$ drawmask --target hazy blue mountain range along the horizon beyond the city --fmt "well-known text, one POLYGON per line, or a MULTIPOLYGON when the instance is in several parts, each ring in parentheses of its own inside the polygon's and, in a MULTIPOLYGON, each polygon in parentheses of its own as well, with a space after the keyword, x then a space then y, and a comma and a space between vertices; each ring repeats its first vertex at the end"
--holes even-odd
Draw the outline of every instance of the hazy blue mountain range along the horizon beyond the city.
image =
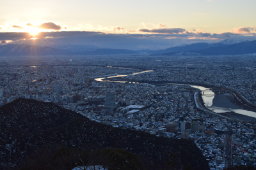
POLYGON ((25 55, 242 55, 256 53, 256 41, 225 39, 220 43, 193 43, 164 50, 138 50, 100 48, 99 46, 35 46, 10 44, 0 46, 0 56, 25 55))

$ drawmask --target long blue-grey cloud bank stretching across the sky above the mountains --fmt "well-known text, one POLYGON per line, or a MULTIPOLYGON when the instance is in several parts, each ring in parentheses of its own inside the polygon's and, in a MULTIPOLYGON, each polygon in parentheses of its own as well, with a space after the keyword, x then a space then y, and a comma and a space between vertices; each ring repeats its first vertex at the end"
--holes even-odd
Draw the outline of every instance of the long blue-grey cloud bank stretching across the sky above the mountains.
MULTIPOLYGON (((25 24, 26 25, 26 24, 25 24)), ((68 28, 70 29, 70 28, 68 28)), ((254 28, 253 28, 254 29, 254 28)), ((222 32, 220 34, 210 34, 199 29, 188 32, 186 29, 166 28, 163 29, 146 29, 148 32, 139 32, 134 30, 126 30, 125 34, 122 27, 104 27, 102 31, 54 31, 40 32, 34 37, 28 32, 0 32, 0 42, 6 43, 26 43, 39 46, 58 46, 67 45, 95 45, 101 48, 125 48, 129 50, 142 49, 164 49, 172 46, 179 46, 191 43, 218 43, 227 38, 256 39, 256 34, 252 31, 250 34, 237 34, 234 32, 222 32), (120 29, 117 29, 120 28, 120 29), (116 32, 114 31, 116 30, 116 32), (108 31, 108 33, 106 32, 108 31), (109 32, 112 31, 112 32, 109 32), (160 33, 159 33, 160 32, 160 33), (164 33, 163 33, 164 32, 164 33), (166 33, 167 32, 167 33, 166 33), (147 34, 145 34, 147 33, 147 34), (248 36, 250 35, 250 36, 248 36), (38 38, 38 39, 32 39, 38 38)), ((4 43, 0 43, 4 45, 4 43)))

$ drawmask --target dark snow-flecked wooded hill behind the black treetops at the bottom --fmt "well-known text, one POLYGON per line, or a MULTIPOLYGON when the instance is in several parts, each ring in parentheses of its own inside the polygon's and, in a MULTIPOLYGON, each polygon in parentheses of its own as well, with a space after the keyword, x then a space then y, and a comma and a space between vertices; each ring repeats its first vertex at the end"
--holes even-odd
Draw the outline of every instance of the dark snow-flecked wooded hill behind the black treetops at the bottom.
POLYGON ((209 169, 196 145, 184 139, 157 138, 146 132, 93 122, 52 103, 17 99, 0 108, 0 168, 18 167, 31 153, 56 145, 88 150, 122 148, 140 157, 146 169, 209 169), (175 155, 175 157, 173 157, 175 155))

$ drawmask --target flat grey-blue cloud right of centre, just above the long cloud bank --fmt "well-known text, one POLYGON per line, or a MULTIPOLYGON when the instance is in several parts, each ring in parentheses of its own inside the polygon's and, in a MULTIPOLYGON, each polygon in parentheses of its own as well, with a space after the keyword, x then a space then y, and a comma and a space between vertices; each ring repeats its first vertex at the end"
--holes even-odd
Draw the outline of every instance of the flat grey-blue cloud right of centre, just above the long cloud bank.
POLYGON ((182 28, 163 28, 163 29, 139 29, 140 32, 158 33, 158 34, 188 34, 186 29, 182 28))

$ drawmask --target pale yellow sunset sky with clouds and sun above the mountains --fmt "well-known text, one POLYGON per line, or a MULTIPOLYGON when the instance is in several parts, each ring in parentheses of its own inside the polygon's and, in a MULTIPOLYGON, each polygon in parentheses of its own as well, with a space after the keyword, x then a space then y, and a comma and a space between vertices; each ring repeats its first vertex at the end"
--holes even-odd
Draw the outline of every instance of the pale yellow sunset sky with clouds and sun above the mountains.
POLYGON ((130 50, 256 39, 255 0, 1 1, 0 45, 130 50))

